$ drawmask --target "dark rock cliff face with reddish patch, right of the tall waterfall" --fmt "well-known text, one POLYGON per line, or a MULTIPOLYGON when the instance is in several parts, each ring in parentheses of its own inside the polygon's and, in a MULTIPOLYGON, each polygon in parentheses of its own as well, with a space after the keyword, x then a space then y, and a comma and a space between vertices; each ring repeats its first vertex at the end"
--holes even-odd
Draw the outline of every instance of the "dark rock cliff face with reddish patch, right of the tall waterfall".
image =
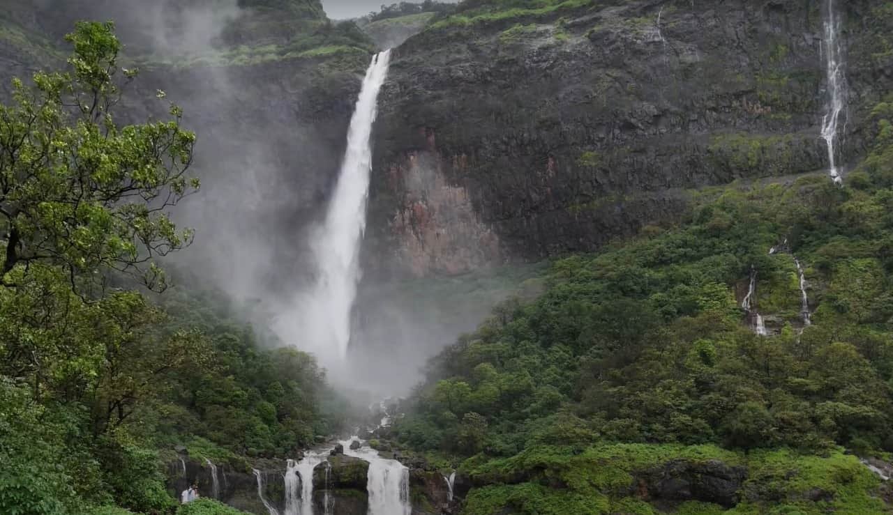
MULTIPOLYGON (((678 218, 686 189, 822 170, 823 4, 565 2, 436 21, 397 49, 380 98, 370 265, 455 274, 592 250, 678 218)), ((867 48, 886 23, 868 20, 893 16, 837 4, 847 162, 890 85, 867 48)))

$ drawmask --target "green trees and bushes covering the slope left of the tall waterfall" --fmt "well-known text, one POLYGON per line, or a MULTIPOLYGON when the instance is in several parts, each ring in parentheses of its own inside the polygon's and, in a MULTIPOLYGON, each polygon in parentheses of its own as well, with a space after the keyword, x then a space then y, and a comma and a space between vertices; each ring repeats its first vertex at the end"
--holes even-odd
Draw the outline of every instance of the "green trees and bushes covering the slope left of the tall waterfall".
POLYGON ((136 73, 110 24, 68 41, 69 71, 17 80, 0 106, 0 512, 171 512, 174 444, 245 469, 346 409, 311 356, 261 350, 213 295, 160 294, 156 260, 192 238, 168 211, 199 186, 196 136, 176 105, 117 123, 136 73))

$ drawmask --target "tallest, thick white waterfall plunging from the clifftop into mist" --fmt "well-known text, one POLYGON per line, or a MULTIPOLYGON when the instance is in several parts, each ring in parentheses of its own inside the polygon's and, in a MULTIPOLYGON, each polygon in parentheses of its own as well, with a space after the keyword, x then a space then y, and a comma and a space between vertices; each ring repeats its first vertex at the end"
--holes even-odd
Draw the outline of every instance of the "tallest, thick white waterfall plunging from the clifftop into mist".
POLYGON ((317 353, 343 360, 350 340, 350 316, 360 278, 359 249, 366 227, 366 200, 371 171, 370 137, 381 85, 388 75, 390 51, 375 55, 363 79, 347 130, 347 148, 338 185, 326 218, 313 238, 318 267, 313 295, 306 306, 303 330, 317 353), (337 349, 337 354, 333 353, 337 349))

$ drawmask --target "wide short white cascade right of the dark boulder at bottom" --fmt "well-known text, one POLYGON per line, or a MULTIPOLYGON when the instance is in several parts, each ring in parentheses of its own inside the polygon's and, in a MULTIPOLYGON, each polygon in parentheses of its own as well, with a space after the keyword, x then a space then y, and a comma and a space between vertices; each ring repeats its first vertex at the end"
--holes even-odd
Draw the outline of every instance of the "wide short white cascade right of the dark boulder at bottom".
POLYGON ((369 461, 368 485, 369 515, 410 515, 413 507, 409 502, 409 469, 396 460, 388 460, 369 447, 351 449, 350 443, 358 438, 341 442, 348 456, 369 461))

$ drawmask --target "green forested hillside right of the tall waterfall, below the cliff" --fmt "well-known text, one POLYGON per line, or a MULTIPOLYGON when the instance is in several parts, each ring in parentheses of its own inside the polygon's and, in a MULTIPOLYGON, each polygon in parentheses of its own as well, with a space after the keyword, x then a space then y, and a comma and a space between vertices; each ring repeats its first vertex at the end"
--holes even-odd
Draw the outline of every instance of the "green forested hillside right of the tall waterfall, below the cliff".
MULTIPOLYGON (((737 505, 679 512, 889 510, 842 450, 893 452, 891 105, 874 110, 877 143, 848 187, 715 188, 678 228, 555 262, 543 295, 502 304, 430 362, 396 438, 488 485, 467 513, 658 512, 629 496, 643 474, 711 461, 747 471, 737 505), (808 327, 791 254, 768 253, 786 238, 808 327), (751 267, 772 336, 739 307, 751 267)), ((715 145, 746 147, 753 167, 780 144, 715 145)))

